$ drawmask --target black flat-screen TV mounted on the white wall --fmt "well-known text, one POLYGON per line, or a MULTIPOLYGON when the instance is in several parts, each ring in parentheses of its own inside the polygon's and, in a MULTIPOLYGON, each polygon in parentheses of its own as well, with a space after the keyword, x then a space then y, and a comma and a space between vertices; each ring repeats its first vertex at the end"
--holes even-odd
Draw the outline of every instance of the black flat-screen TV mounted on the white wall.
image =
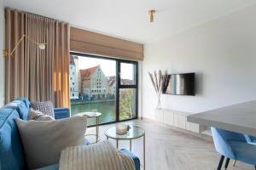
POLYGON ((163 94, 195 95, 195 73, 168 75, 163 94))

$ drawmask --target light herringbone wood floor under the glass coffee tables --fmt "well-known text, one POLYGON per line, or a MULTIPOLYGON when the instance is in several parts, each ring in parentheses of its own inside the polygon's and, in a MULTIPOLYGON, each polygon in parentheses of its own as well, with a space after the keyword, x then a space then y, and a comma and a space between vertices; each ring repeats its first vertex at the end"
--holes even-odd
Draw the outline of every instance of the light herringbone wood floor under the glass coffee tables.
MULTIPOLYGON (((122 122, 143 127, 146 131, 146 169, 147 170, 213 170, 216 169, 219 155, 212 141, 203 139, 193 133, 186 133, 173 127, 146 120, 122 122)), ((106 139, 104 132, 114 124, 100 127, 101 139, 106 139)), ((90 127, 87 133, 94 133, 90 127)), ((114 140, 111 140, 115 144, 114 140)), ((129 149, 127 141, 121 141, 119 148, 129 149)), ((132 152, 143 161, 143 139, 132 143, 132 152)), ((253 170, 254 167, 237 162, 230 170, 253 170)))

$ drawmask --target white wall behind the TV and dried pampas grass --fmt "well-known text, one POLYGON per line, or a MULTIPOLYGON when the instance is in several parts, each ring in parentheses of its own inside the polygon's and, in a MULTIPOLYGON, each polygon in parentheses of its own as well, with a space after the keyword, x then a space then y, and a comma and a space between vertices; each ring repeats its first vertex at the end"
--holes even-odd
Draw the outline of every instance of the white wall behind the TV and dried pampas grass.
POLYGON ((145 45, 143 116, 157 101, 148 71, 196 72, 195 97, 163 95, 162 107, 200 112, 256 99, 256 5, 145 45))

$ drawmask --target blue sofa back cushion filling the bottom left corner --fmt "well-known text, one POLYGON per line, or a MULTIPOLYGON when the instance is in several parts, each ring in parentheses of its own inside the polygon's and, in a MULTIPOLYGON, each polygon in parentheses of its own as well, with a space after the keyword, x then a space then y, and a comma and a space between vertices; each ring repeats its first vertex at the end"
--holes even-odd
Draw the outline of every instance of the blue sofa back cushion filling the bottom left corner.
POLYGON ((14 109, 0 109, 0 169, 26 169, 26 160, 15 123, 19 113, 14 109))

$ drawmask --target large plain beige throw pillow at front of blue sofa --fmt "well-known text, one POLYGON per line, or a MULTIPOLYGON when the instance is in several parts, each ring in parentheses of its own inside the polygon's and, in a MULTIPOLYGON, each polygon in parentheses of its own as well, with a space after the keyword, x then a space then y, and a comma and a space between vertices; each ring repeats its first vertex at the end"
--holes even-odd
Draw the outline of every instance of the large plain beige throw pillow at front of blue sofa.
POLYGON ((29 169, 58 163, 61 150, 83 145, 86 117, 73 116, 56 121, 23 121, 15 119, 20 131, 29 169))

